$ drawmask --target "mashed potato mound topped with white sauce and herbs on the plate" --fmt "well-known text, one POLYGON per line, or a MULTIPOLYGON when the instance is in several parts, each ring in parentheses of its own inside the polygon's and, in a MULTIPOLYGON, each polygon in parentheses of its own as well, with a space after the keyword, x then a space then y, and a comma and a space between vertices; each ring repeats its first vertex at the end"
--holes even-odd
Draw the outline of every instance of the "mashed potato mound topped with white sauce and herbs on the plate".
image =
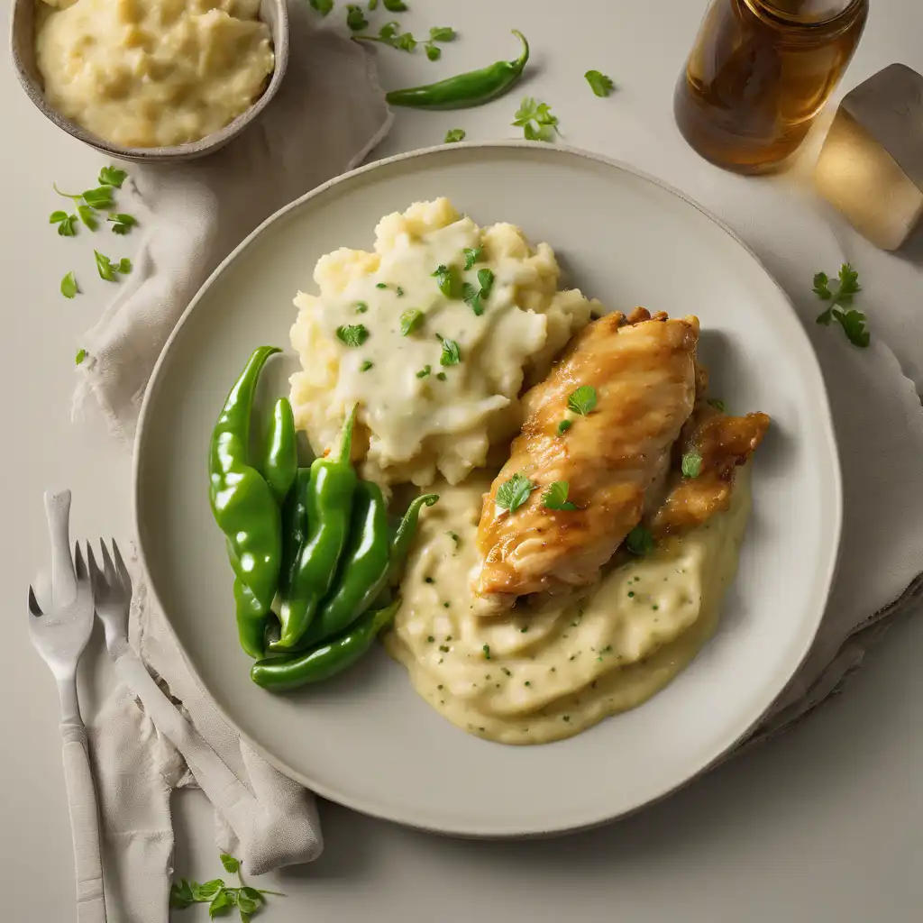
POLYGON ((460 483, 520 426, 523 383, 590 319, 594 303, 559 280, 550 246, 478 227, 446 198, 386 216, 374 252, 320 258, 319 293, 295 298, 296 424, 322 452, 358 403, 364 477, 460 483))

